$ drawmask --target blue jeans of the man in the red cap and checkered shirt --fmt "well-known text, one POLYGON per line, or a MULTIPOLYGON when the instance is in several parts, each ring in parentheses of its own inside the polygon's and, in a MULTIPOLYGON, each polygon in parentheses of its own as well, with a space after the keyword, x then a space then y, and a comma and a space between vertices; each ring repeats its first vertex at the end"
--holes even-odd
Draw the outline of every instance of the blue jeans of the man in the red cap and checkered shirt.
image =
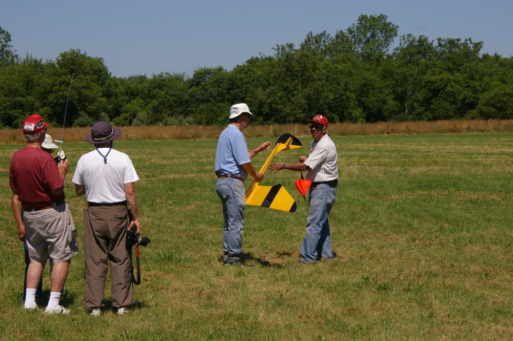
POLYGON ((313 263, 320 258, 332 258, 328 215, 335 203, 337 187, 313 185, 310 189, 310 209, 306 218, 306 236, 301 244, 301 261, 313 263))

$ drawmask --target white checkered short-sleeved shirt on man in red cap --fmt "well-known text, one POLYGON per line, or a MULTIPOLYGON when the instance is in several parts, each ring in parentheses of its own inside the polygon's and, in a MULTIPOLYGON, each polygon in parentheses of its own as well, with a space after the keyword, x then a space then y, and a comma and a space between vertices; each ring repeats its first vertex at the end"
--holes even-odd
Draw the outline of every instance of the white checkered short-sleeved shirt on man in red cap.
POLYGON ((328 135, 324 135, 319 142, 312 141, 310 155, 304 164, 311 169, 307 172, 306 177, 313 183, 339 178, 337 148, 328 135))

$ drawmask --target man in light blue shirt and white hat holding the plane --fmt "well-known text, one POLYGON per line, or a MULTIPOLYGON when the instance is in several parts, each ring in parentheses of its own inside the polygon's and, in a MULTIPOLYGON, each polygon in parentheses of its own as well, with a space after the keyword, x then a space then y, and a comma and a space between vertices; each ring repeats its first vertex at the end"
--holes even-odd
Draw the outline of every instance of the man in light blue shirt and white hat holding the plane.
POLYGON ((251 122, 253 114, 246 104, 235 104, 230 108, 230 124, 219 135, 215 153, 215 175, 218 182, 215 190, 223 204, 223 263, 225 265, 250 266, 241 259, 244 207, 246 206, 244 181, 249 174, 261 181, 264 174, 255 171, 251 158, 271 147, 266 142, 248 151, 246 138, 242 133, 251 122))

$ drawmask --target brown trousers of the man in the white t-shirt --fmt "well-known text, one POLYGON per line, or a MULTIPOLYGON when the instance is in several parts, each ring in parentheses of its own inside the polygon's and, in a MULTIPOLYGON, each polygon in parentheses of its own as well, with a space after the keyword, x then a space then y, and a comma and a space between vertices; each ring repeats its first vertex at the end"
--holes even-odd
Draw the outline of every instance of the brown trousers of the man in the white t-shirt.
POLYGON ((125 206, 91 206, 84 211, 84 309, 104 306, 102 298, 109 264, 112 306, 133 304, 131 248, 125 246, 129 224, 125 206))

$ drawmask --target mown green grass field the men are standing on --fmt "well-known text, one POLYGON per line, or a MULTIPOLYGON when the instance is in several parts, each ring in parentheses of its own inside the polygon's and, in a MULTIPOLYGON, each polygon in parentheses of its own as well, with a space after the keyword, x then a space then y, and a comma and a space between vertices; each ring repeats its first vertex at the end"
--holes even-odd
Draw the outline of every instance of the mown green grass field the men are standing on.
MULTIPOLYGON (((305 134, 306 135, 306 134, 305 134)), ((278 136, 269 138, 274 142, 278 136)), ((305 147, 274 160, 295 162, 305 147)), ((249 138, 249 148, 265 138, 249 138)), ((333 262, 298 264, 307 203, 299 173, 266 173, 297 200, 294 213, 246 207, 253 268, 226 267, 213 174, 215 139, 120 141, 136 183, 143 236, 137 312, 82 309, 83 253, 72 260, 68 316, 21 309, 23 246, 0 145, 2 340, 510 340, 513 339, 511 133, 333 137, 339 153, 330 215, 333 262)), ((83 250, 83 197, 71 177, 86 143, 67 143, 67 202, 83 250)), ((257 168, 269 152, 253 158, 257 168)), ((248 182, 246 186, 249 186, 248 182)), ((44 289, 48 294, 48 269, 44 289)), ((109 304, 110 286, 105 292, 109 304)), ((46 303, 43 302, 44 305, 46 303)))

